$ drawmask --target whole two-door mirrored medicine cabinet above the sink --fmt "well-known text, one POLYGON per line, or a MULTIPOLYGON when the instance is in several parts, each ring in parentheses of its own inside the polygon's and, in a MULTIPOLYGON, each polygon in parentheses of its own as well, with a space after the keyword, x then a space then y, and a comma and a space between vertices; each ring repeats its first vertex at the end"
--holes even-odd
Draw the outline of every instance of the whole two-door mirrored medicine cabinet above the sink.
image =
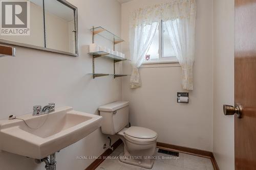
MULTIPOLYGON (((78 56, 77 8, 65 0, 28 2, 30 35, 0 35, 0 43, 78 56)), ((5 10, 8 11, 7 8, 5 10)), ((15 10, 18 9, 15 7, 15 10)), ((22 18, 16 14, 15 17, 22 18)))

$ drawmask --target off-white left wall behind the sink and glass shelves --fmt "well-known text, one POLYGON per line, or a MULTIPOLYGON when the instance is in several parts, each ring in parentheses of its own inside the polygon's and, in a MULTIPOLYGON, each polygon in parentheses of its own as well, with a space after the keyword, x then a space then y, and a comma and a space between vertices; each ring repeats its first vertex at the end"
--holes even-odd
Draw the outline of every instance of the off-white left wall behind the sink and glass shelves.
MULTIPOLYGON (((121 34, 121 5, 116 0, 69 2, 78 7, 79 57, 17 47, 16 57, 1 58, 0 118, 26 114, 32 111, 33 105, 49 102, 55 102, 56 107, 73 106, 78 111, 98 114, 98 106, 121 99, 121 79, 93 80, 88 75, 92 72, 92 57, 87 54, 92 26, 121 34)), ((112 72, 113 61, 98 58, 96 69, 97 72, 112 72)), ((56 154, 57 169, 86 168, 93 160, 77 160, 76 156, 102 154, 105 141, 106 136, 98 129, 61 150, 56 154)), ((1 169, 45 169, 44 163, 35 164, 31 158, 7 152, 0 153, 0 165, 1 169)))

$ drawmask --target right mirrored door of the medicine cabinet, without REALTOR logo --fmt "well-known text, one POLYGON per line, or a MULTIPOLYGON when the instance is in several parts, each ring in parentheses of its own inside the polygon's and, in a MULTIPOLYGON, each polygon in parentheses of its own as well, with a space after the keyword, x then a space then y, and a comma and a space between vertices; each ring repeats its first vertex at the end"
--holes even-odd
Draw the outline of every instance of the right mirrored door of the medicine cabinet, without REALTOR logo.
POLYGON ((45 0, 46 47, 76 53, 74 9, 59 1, 45 0))

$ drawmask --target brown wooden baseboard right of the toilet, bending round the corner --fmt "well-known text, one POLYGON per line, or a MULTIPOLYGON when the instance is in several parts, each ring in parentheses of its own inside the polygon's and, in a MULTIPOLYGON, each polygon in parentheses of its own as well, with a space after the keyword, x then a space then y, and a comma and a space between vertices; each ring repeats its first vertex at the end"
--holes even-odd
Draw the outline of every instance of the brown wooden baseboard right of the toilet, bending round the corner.
POLYGON ((214 167, 214 170, 220 170, 214 157, 214 154, 212 154, 212 152, 187 147, 180 147, 178 145, 167 144, 162 142, 157 142, 157 148, 209 158, 211 160, 212 166, 214 167))

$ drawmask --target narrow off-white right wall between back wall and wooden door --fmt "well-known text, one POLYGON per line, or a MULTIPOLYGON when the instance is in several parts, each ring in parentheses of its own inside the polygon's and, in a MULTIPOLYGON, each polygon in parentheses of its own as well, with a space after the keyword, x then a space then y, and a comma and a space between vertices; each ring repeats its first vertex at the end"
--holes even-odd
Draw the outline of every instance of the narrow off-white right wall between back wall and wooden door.
POLYGON ((234 1, 214 0, 214 141, 220 169, 234 169, 234 121, 223 104, 234 104, 234 1))

